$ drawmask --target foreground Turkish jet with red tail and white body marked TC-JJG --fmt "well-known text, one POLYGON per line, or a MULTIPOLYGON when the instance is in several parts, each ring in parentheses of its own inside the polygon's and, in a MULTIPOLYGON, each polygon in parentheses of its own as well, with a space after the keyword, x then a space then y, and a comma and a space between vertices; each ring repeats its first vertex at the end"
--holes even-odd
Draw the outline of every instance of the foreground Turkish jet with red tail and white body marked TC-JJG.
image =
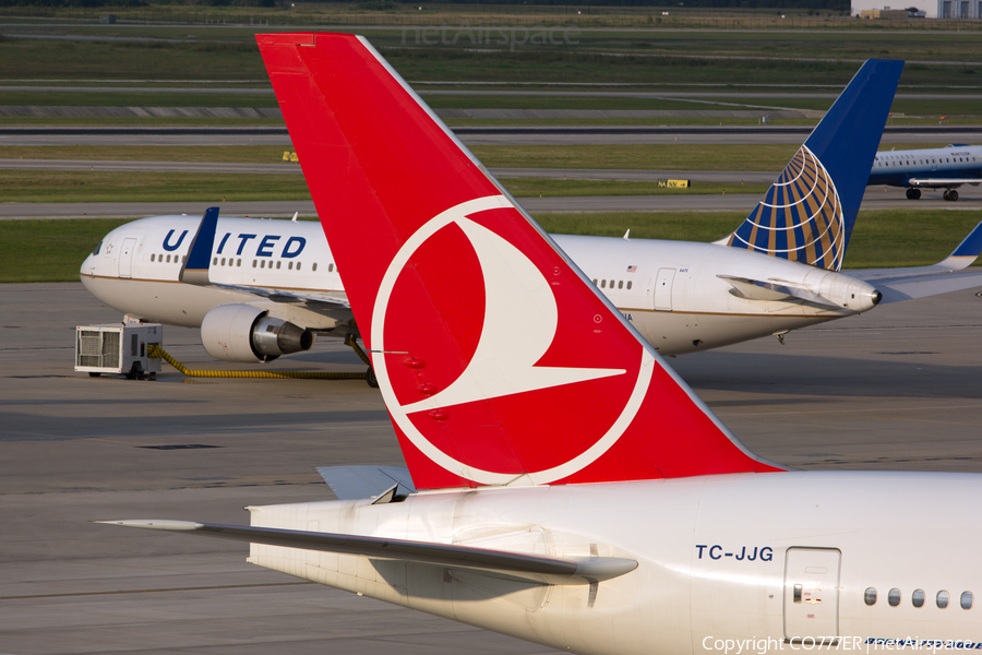
POLYGON ((256 39, 408 471, 106 523, 572 653, 982 650, 982 476, 754 455, 363 37, 256 39))

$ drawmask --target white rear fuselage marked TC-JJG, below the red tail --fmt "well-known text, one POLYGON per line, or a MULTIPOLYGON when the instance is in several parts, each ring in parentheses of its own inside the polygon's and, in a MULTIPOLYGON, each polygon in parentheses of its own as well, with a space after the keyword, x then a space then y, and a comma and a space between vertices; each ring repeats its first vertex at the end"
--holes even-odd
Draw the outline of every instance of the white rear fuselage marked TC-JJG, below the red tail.
POLYGON ((982 523, 951 499, 980 495, 973 474, 787 472, 249 508, 253 526, 637 560, 592 591, 255 544, 249 561, 576 653, 965 652, 982 648, 982 568, 963 565, 982 523))

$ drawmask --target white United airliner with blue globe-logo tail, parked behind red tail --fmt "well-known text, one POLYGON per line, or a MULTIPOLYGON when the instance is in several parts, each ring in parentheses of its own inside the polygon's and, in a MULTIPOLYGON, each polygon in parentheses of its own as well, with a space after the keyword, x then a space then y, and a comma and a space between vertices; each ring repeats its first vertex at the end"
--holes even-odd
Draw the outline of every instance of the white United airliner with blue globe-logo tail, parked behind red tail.
MULTIPOLYGON (((982 251, 982 223, 933 266, 840 270, 864 191, 857 171, 873 157, 894 88, 857 109, 859 94, 855 84, 843 92, 753 213, 721 241, 552 238, 661 355, 783 338, 881 300, 982 286, 982 271, 966 270, 982 251)), ((82 282, 132 317, 200 326, 216 359, 268 361, 310 348, 314 332, 358 336, 319 224, 212 212, 116 228, 82 264, 82 282), (189 253, 193 275, 184 269, 189 253)), ((364 233, 359 249, 374 240, 364 233)))

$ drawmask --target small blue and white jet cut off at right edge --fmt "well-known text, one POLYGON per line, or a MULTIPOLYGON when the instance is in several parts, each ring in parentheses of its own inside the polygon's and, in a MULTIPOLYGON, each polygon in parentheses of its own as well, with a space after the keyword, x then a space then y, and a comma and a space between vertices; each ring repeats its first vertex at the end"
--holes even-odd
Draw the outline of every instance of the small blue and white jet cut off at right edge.
POLYGON ((876 153, 870 187, 907 187, 907 199, 921 198, 921 189, 944 189, 944 199, 958 200, 961 184, 982 182, 982 145, 953 143, 945 147, 876 153))

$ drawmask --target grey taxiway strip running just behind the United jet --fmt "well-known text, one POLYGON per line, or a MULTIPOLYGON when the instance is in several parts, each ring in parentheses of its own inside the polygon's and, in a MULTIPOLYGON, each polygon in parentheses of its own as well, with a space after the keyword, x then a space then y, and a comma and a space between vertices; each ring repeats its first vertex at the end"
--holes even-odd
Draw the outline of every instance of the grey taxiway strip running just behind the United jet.
MULTIPOLYGON (((863 198, 864 210, 982 210, 982 188, 962 187, 958 202, 946 202, 941 190, 924 190, 919 201, 907 200, 903 189, 871 187, 863 198)), ((518 198, 530 213, 540 212, 750 212, 761 200, 755 193, 666 195, 565 195, 553 198, 518 198)), ((36 218, 96 218, 143 217, 164 214, 201 215, 207 207, 221 207, 226 216, 252 216, 262 218, 290 217, 298 212, 302 217, 315 217, 313 201, 175 201, 175 202, 13 202, 0 203, 0 221, 36 218)))

